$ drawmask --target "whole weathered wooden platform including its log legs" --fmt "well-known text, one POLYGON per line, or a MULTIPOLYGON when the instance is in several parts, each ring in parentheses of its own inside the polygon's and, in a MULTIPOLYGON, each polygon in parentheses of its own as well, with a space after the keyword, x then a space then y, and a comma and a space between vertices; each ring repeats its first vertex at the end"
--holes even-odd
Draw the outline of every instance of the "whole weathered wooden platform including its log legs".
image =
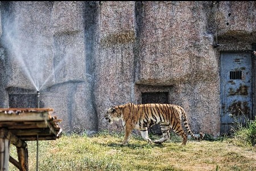
POLYGON ((28 170, 28 140, 60 138, 61 119, 51 116, 49 108, 0 108, 0 171, 9 170, 9 161, 20 171, 28 170), (10 144, 16 146, 18 160, 9 154, 10 144))

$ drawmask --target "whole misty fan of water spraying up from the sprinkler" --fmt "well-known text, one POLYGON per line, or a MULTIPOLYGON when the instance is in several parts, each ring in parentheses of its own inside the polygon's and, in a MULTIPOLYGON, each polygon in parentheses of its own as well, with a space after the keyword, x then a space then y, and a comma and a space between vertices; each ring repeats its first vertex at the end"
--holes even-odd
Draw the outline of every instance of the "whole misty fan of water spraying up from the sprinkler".
POLYGON ((43 25, 45 23, 42 23, 43 27, 38 24, 37 19, 41 17, 39 13, 35 14, 38 15, 35 16, 35 24, 27 21, 28 19, 34 19, 29 16, 31 15, 29 12, 22 15, 16 14, 9 15, 7 12, 2 21, 2 38, 5 42, 3 45, 7 49, 7 62, 10 62, 14 71, 11 72, 9 77, 10 84, 13 86, 17 83, 16 87, 42 91, 42 89, 58 82, 58 78, 70 74, 72 71, 67 72, 67 69, 76 67, 79 59, 73 51, 74 47, 61 46, 63 40, 56 42, 56 49, 59 51, 56 52, 56 55, 54 54, 53 43, 55 42, 51 29, 48 28, 48 25, 43 25), (49 32, 46 32, 46 29, 49 29, 49 32), (20 78, 20 76, 24 76, 29 82, 24 84, 24 78, 20 78), (18 81, 15 82, 14 79, 18 81))

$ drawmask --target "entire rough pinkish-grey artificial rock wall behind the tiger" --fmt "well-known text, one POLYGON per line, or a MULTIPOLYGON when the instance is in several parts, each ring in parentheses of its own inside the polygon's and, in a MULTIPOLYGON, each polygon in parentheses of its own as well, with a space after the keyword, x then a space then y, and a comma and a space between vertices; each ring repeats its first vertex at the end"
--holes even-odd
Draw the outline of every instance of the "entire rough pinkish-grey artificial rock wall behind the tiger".
POLYGON ((121 130, 104 120, 106 109, 164 91, 192 131, 218 135, 219 53, 252 50, 255 9, 252 1, 1 2, 0 107, 10 93, 40 89, 40 105, 64 130, 121 130), (223 45, 213 48, 216 37, 223 45))

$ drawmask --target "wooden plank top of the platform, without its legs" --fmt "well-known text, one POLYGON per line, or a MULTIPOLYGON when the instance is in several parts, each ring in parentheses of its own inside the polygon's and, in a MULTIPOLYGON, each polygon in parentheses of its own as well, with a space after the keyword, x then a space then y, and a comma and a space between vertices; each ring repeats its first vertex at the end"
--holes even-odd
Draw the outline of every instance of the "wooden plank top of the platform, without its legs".
POLYGON ((51 108, 0 108, 0 128, 10 130, 21 140, 55 140, 60 137, 62 119, 51 108))

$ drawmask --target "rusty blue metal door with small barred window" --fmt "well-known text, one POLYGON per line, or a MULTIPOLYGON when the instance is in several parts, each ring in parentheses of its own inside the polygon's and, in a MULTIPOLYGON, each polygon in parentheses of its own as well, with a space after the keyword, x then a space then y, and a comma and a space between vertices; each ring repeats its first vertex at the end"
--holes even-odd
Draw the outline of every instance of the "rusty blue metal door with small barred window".
POLYGON ((221 134, 252 116, 251 54, 220 54, 221 134))

